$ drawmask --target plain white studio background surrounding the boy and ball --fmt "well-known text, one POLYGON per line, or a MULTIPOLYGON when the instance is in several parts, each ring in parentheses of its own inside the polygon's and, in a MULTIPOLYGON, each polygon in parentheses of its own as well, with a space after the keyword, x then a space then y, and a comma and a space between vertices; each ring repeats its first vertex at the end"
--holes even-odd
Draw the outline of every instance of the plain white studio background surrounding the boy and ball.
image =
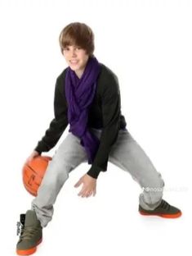
POLYGON ((21 168, 53 118, 56 77, 66 67, 58 37, 74 21, 92 27, 97 59, 118 75, 127 129, 161 172, 164 199, 183 215, 139 215, 141 188, 111 163, 96 197, 78 197, 74 184, 90 168, 83 163, 61 190, 36 254, 190 255, 191 13, 190 0, 0 1, 3 256, 15 255, 16 222, 33 199, 21 168))

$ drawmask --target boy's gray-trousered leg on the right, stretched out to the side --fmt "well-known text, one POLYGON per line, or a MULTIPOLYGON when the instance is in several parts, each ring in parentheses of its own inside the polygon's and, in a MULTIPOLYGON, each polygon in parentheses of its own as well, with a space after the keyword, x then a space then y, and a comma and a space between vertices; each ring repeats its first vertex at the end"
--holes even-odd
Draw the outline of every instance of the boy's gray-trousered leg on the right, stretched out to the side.
POLYGON ((118 139, 109 153, 109 161, 128 171, 144 189, 139 197, 142 208, 153 210, 159 206, 164 185, 161 174, 127 130, 119 130, 118 139))

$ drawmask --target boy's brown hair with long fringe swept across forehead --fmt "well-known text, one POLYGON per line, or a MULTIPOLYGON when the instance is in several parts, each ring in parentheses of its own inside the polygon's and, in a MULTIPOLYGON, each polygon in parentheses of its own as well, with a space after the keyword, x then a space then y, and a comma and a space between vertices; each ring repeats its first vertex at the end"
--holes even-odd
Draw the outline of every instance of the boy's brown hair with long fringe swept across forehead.
POLYGON ((66 25, 60 32, 59 42, 61 53, 69 45, 76 45, 83 48, 89 56, 93 55, 95 49, 92 29, 88 25, 80 22, 73 22, 66 25))

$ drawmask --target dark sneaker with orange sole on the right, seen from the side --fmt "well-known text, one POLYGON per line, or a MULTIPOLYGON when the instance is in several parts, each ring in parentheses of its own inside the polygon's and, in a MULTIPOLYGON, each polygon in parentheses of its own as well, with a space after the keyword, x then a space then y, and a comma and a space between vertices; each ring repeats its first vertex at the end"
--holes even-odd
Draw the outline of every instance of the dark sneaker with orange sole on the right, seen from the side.
POLYGON ((161 203, 157 208, 154 210, 145 210, 144 208, 139 205, 139 213, 142 215, 155 215, 160 217, 168 217, 168 218, 175 218, 181 216, 181 210, 170 205, 165 200, 162 199, 161 203))

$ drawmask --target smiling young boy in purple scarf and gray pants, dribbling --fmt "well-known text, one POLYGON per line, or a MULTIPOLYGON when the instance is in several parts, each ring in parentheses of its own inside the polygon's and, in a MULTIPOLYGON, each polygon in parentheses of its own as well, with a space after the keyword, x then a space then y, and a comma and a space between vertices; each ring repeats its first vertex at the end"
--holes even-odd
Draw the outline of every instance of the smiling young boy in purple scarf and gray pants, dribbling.
POLYGON ((162 199, 163 179, 144 150, 128 132, 121 113, 118 78, 97 61, 94 34, 90 27, 74 22, 60 33, 60 50, 68 67, 57 77, 54 112, 45 135, 27 161, 52 149, 69 124, 69 134, 49 162, 32 208, 20 214, 19 255, 33 254, 42 241, 42 228, 53 215, 53 204, 69 172, 82 162, 92 164, 74 185, 83 184, 79 196, 96 195, 96 179, 107 163, 129 172, 144 189, 139 197, 139 213, 160 217, 180 217, 181 211, 162 199))

